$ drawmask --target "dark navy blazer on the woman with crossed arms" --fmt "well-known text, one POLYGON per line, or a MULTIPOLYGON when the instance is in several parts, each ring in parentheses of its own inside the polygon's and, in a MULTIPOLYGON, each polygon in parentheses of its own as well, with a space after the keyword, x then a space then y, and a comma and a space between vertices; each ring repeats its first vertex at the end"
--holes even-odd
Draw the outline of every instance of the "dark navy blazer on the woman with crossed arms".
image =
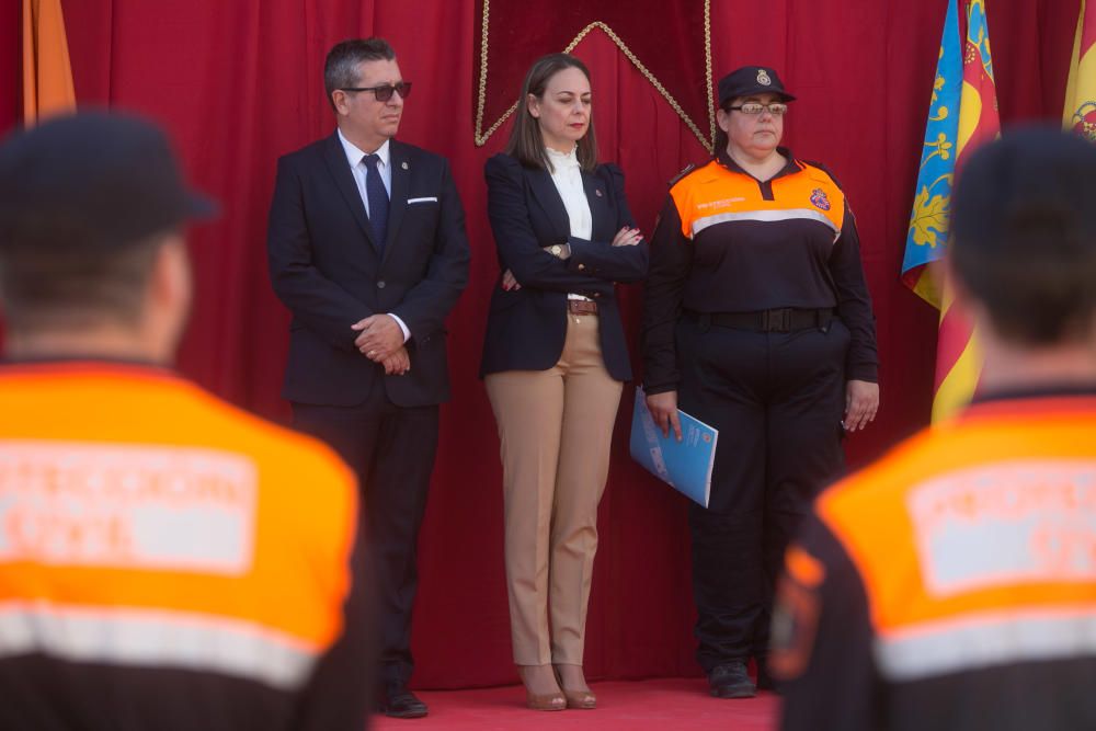
POLYGON ((610 245, 623 226, 635 226, 624 173, 607 163, 582 173, 593 218, 593 240, 586 241, 571 237, 563 199, 546 170, 495 155, 483 172, 499 266, 513 272, 522 287, 506 292, 499 284, 491 295, 480 376, 556 365, 567 338, 567 294, 573 292, 597 301, 605 368, 618 380, 630 379, 614 283, 647 276, 648 245, 610 245), (571 258, 564 261, 544 251, 553 243, 569 243, 571 258))

